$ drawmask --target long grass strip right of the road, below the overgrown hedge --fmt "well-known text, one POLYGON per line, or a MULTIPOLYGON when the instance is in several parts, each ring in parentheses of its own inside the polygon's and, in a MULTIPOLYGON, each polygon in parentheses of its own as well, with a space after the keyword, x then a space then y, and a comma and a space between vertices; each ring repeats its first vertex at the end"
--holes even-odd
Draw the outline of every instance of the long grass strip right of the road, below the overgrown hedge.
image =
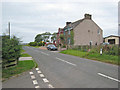
POLYGON ((61 51, 60 53, 118 65, 118 56, 105 54, 100 55, 99 53, 82 52, 79 50, 65 50, 61 51))

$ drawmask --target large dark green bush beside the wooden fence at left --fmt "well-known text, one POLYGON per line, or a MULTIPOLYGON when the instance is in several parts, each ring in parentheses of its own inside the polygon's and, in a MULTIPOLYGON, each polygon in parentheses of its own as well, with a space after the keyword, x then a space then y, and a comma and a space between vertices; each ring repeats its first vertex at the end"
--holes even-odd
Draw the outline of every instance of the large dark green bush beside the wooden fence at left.
POLYGON ((18 62, 18 58, 21 54, 21 45, 17 37, 13 36, 11 39, 9 36, 2 36, 2 66, 3 68, 10 62, 18 62))

